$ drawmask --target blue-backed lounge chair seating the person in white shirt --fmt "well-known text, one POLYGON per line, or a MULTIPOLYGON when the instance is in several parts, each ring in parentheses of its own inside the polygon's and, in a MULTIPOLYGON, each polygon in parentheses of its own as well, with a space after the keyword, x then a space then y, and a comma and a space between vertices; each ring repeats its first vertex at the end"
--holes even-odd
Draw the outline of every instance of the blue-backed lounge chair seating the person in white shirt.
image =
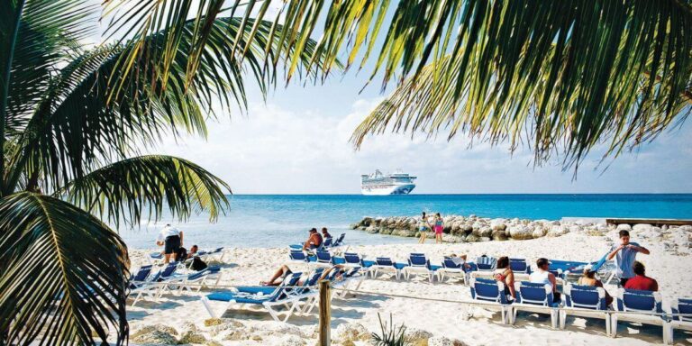
POLYGON ((560 302, 553 301, 550 285, 534 284, 528 281, 515 283, 516 302, 514 302, 514 314, 512 324, 516 322, 518 311, 528 311, 536 314, 550 314, 552 328, 558 327, 560 302))

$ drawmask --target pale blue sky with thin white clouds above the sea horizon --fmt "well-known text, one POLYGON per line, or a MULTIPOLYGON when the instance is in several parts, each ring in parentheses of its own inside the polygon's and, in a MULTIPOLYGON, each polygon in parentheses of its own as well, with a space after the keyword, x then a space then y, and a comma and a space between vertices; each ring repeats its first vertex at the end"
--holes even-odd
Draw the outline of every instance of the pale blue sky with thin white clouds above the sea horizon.
MULTIPOLYGON (((319 33, 316 33, 317 35, 319 33)), ((355 126, 387 96, 379 80, 362 93, 370 70, 350 71, 322 85, 277 87, 263 102, 248 88, 246 114, 210 123, 206 140, 167 138, 151 152, 191 159, 228 182, 236 194, 358 194, 360 174, 402 168, 418 176, 414 193, 682 193, 692 192, 692 131, 688 123, 626 152, 603 171, 599 150, 574 179, 560 161, 533 167, 532 154, 457 137, 425 141, 386 134, 349 143, 355 126)), ((227 115, 227 116, 225 116, 227 115)))

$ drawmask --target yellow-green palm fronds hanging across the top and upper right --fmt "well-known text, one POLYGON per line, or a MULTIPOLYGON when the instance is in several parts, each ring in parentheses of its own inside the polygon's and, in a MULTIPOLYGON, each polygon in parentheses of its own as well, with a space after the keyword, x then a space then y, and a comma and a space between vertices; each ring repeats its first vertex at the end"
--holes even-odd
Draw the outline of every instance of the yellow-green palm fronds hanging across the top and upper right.
MULTIPOLYGON (((123 1, 132 0, 110 2, 123 1)), ((322 32, 311 68, 328 72, 343 54, 347 68, 396 84, 353 133, 356 146, 386 131, 461 133, 525 142, 535 162, 558 153, 576 168, 596 146, 615 157, 690 112, 690 0, 292 0, 278 11, 269 1, 230 3, 243 18, 296 29, 272 36, 285 50, 322 32)), ((297 56, 288 66, 290 77, 297 56)))

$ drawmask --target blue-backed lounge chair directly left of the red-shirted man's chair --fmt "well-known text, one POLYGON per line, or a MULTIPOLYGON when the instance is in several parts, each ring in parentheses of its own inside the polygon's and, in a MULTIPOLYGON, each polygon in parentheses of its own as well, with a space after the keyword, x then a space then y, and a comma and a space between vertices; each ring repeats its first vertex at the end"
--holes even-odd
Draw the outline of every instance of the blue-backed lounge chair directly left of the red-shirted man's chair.
POLYGON ((605 305, 605 289, 593 286, 567 285, 564 288, 565 306, 560 309, 560 329, 565 329, 567 316, 605 320, 605 335, 610 336, 610 314, 605 305))

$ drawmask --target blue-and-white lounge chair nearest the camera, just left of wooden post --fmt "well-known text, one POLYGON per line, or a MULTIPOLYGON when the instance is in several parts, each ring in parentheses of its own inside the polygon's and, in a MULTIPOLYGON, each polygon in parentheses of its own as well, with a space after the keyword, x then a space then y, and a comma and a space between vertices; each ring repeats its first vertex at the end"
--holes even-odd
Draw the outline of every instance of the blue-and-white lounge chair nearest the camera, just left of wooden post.
POLYGON ((202 303, 212 317, 219 317, 219 315, 214 314, 214 309, 211 305, 211 302, 215 301, 225 303, 222 315, 232 305, 260 305, 271 315, 274 321, 286 322, 295 309, 293 303, 296 296, 293 296, 290 292, 292 289, 295 289, 301 275, 302 273, 288 275, 278 287, 236 287, 233 291, 214 292, 202 297, 202 303), (287 310, 278 311, 278 306, 284 306, 287 310), (285 314, 286 316, 281 319, 280 314, 285 314))

